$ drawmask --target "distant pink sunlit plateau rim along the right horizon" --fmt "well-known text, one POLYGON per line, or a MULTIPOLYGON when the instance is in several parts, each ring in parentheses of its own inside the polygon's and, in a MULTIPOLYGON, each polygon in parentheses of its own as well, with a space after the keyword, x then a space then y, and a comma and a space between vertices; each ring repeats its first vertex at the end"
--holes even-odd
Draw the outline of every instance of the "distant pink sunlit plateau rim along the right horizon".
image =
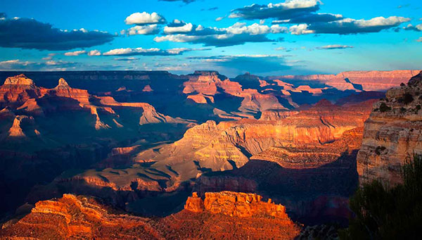
POLYGON ((285 75, 270 77, 280 80, 309 80, 324 83, 340 90, 387 91, 407 82, 418 70, 350 71, 338 75, 285 75))

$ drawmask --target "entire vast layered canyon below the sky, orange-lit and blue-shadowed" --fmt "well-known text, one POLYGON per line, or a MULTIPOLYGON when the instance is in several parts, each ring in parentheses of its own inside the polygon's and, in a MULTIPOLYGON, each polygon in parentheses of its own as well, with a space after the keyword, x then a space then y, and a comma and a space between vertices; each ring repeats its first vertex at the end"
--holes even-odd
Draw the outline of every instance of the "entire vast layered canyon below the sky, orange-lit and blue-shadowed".
POLYGON ((0 235, 293 239, 293 221, 347 225, 358 181, 399 182, 422 152, 418 72, 0 72, 0 235))

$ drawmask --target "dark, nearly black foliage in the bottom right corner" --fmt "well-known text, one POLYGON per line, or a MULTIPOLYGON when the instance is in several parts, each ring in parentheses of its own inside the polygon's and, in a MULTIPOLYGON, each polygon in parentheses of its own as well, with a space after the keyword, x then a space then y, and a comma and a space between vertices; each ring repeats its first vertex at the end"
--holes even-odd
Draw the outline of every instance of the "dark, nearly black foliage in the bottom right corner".
POLYGON ((402 184, 388 187, 374 180, 350 198, 355 217, 340 239, 420 239, 422 222, 422 156, 402 168, 402 184))

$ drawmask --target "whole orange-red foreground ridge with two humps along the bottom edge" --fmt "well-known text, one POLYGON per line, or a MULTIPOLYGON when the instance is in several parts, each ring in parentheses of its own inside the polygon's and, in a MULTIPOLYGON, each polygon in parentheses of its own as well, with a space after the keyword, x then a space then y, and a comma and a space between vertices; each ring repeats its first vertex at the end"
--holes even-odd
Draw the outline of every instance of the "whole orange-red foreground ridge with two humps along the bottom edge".
MULTIPOLYGON (((187 210, 149 219, 127 215, 85 196, 39 201, 25 217, 12 219, 0 229, 3 239, 294 239, 300 228, 283 206, 260 201, 256 194, 207 194, 210 211, 195 211, 195 194, 187 210), (236 203, 236 206, 235 206, 236 203), (234 209, 234 214, 230 214, 234 209), (218 211, 218 210, 222 211, 218 211)), ((203 201, 202 199, 198 199, 203 201)), ((202 205, 203 206, 203 205, 202 205)), ((26 206, 30 208, 30 206, 26 206)), ((201 208, 203 209, 203 208, 201 208)))

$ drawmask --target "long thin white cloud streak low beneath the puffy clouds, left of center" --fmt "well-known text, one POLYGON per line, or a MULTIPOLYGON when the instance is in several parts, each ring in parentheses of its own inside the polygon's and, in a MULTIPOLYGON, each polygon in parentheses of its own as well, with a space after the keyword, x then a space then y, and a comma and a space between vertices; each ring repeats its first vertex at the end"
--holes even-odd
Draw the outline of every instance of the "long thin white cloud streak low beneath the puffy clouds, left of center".
POLYGON ((181 55, 186 51, 203 51, 209 49, 186 49, 186 48, 179 48, 179 49, 143 49, 139 48, 126 48, 126 49, 112 49, 103 53, 103 56, 175 56, 181 55))

